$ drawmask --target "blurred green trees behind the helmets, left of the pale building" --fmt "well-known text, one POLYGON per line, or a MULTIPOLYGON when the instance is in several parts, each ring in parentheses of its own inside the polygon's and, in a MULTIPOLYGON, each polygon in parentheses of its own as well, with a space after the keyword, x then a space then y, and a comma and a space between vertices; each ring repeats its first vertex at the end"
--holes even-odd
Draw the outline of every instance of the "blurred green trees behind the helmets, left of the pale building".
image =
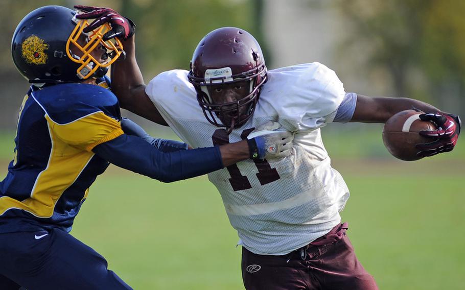
POLYGON ((136 23, 137 61, 146 82, 159 72, 189 69, 200 39, 223 26, 241 27, 257 37, 261 33, 262 0, 7 0, 0 1, 0 129, 15 127, 17 108, 28 83, 11 60, 11 38, 17 23, 30 11, 45 5, 108 6, 136 23))

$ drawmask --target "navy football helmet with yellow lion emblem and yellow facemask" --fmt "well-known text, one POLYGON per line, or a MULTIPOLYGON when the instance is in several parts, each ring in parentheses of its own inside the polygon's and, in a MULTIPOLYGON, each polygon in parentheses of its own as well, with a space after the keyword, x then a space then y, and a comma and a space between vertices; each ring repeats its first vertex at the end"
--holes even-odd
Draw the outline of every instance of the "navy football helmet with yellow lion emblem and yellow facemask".
POLYGON ((102 77, 123 53, 119 39, 102 40, 111 29, 107 23, 86 34, 82 31, 89 23, 76 19, 76 13, 62 6, 44 6, 19 22, 11 54, 16 68, 30 83, 41 86, 102 77), (96 49, 102 50, 106 61, 91 55, 96 49))

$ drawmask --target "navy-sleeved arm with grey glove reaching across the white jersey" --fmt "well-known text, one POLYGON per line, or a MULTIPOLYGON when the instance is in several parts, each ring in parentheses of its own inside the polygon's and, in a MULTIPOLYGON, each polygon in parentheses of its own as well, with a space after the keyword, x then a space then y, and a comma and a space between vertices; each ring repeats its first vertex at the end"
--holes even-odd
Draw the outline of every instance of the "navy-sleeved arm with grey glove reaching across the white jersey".
POLYGON ((143 138, 123 134, 97 145, 92 151, 119 167, 173 182, 214 172, 248 158, 285 157, 291 152, 292 139, 291 132, 263 131, 251 139, 219 147, 161 152, 143 138), (269 151, 269 148, 278 150, 269 151))

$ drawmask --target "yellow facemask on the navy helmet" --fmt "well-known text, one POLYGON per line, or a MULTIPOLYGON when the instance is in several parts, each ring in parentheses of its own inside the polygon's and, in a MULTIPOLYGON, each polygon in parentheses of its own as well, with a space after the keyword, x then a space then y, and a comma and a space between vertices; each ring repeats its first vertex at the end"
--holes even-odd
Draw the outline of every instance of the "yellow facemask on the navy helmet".
POLYGON ((89 26, 89 22, 86 19, 77 19, 73 17, 73 21, 76 22, 76 28, 73 30, 71 35, 66 42, 66 51, 69 59, 74 62, 80 63, 81 66, 76 70, 78 76, 85 80, 94 75, 94 72, 97 71, 100 67, 107 67, 117 60, 121 54, 124 54, 123 44, 121 41, 115 37, 107 41, 103 40, 103 35, 111 30, 111 27, 108 23, 99 26, 98 28, 90 31, 89 33, 82 32, 84 28, 89 26), (82 35, 86 35, 87 41, 82 46, 78 39, 82 35), (81 53, 82 56, 77 56, 71 52, 70 44, 73 44, 81 53), (98 59, 94 58, 91 55, 91 52, 94 51, 99 45, 103 45, 107 51, 108 59, 104 63, 100 63, 98 59))

